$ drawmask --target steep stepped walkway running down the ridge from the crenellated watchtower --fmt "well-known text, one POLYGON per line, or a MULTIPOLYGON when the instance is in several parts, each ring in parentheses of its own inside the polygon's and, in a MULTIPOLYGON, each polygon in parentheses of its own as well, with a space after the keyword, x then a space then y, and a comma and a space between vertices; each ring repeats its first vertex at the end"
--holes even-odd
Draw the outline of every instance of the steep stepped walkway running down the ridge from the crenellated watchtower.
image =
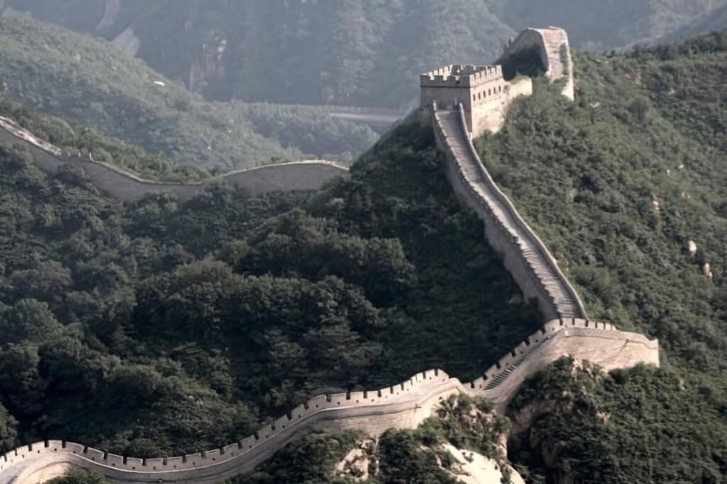
POLYGON ((462 126, 459 111, 438 110, 434 113, 434 118, 446 143, 449 144, 458 170, 467 184, 474 189, 475 194, 487 205, 489 211, 510 233, 526 265, 534 272, 553 300, 558 317, 563 319, 587 317, 575 290, 557 268, 553 256, 517 215, 505 194, 495 186, 479 157, 473 155, 468 146, 470 144, 468 133, 465 126, 462 126))

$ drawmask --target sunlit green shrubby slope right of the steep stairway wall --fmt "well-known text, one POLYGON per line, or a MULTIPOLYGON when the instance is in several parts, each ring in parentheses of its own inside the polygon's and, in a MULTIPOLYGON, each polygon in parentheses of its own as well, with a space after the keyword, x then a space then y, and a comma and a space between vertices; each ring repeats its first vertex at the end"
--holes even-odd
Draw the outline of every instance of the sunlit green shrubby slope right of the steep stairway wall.
POLYGON ((477 141, 591 316, 703 372, 726 369, 726 38, 579 54, 577 102, 540 89, 477 141))

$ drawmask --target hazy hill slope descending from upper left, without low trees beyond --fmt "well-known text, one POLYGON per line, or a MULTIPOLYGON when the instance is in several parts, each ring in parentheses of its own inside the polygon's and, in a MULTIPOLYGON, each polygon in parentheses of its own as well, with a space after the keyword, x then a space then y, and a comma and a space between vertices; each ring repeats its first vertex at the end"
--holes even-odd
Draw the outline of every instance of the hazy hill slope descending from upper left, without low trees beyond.
POLYGON ((42 22, 0 18, 0 94, 181 163, 301 157, 110 44, 42 22))

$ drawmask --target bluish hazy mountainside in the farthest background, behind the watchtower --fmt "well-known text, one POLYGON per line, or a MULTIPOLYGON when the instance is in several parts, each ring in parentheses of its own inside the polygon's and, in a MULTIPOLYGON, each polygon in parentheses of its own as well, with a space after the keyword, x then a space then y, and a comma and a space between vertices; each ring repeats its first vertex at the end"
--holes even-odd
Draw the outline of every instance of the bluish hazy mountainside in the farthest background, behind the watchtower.
MULTIPOLYGON (((727 28, 725 0, 5 0, 103 36, 209 99, 415 107, 412 80, 492 62, 526 27, 557 25, 579 49, 619 49, 727 28), (701 18, 701 20, 696 20, 701 18), (721 20, 720 20, 721 19, 721 20)), ((1 2, 0 2, 1 5, 1 2)))

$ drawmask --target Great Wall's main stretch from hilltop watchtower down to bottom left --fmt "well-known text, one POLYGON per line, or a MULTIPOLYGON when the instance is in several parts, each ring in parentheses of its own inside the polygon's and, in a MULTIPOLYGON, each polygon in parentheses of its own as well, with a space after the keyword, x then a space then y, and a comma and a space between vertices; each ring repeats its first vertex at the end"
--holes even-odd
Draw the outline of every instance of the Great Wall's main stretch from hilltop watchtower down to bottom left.
MULTIPOLYGON (((534 31, 541 39, 542 55, 548 56, 544 65, 550 66, 549 72, 566 75, 569 70, 572 76, 571 65, 556 66, 562 60, 563 42, 567 49, 565 32, 553 28, 534 31), (553 38, 549 38, 550 33, 553 38), (561 44, 555 49, 548 47, 558 42, 561 44)), ((531 34, 523 38, 516 39, 508 49, 520 48, 520 41, 531 48, 531 34)), ((470 383, 463 384, 435 369, 381 390, 319 395, 244 440, 186 456, 134 459, 76 443, 46 440, 0 456, 0 484, 44 482, 71 469, 100 472, 111 483, 220 483, 227 477, 251 471, 311 427, 356 428, 371 435, 390 428, 412 428, 430 417, 440 401, 455 393, 490 398, 497 409, 505 409, 507 401, 526 377, 563 354, 588 359, 607 370, 639 363, 658 366, 659 344, 656 340, 587 319, 577 292, 558 268, 557 261, 494 184, 479 159, 471 141, 473 126, 477 130, 497 131, 504 121, 507 104, 517 95, 515 93, 528 94, 527 89, 523 89, 523 81, 517 81, 513 89, 513 83, 491 75, 497 70, 487 67, 494 66, 452 65, 422 75, 422 81, 427 81, 422 83, 422 112, 433 124, 454 191, 484 221, 486 239, 502 255, 523 295, 537 300, 548 321, 542 329, 470 383), (485 74, 477 76, 478 82, 465 81, 470 84, 467 89, 475 90, 467 91, 466 99, 469 101, 471 97, 474 103, 465 104, 460 94, 455 99, 444 89, 441 89, 441 95, 431 91, 439 89, 433 87, 437 81, 459 87, 465 83, 462 76, 477 73, 485 74), (483 86, 479 81, 497 86, 497 96, 489 91, 493 99, 478 103, 478 92, 492 89, 491 85, 483 86), (499 107, 491 109, 498 103, 499 107), (442 110, 441 107, 449 109, 442 110)), ((557 80, 555 76, 550 77, 557 80)), ((568 96, 569 93, 564 91, 563 94, 568 96)), ((43 149, 40 151, 47 154, 43 149)))

